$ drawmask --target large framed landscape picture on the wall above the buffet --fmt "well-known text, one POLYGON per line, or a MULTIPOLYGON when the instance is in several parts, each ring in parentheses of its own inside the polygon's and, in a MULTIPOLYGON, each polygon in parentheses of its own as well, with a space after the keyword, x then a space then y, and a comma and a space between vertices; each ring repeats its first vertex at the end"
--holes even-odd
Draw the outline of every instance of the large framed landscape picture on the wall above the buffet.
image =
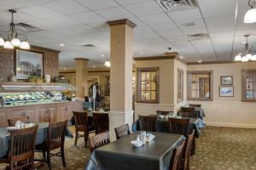
POLYGON ((20 80, 28 77, 43 77, 44 54, 34 51, 15 49, 15 72, 20 80))

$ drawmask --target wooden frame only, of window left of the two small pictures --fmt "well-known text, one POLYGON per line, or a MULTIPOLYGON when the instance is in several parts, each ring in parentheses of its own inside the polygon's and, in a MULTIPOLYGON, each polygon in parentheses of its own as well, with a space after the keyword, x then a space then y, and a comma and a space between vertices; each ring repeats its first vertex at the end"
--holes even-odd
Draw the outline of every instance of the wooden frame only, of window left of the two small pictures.
POLYGON ((213 71, 187 71, 187 99, 194 101, 212 101, 213 100, 213 71), (210 98, 191 98, 191 75, 192 74, 209 74, 210 75, 210 98))

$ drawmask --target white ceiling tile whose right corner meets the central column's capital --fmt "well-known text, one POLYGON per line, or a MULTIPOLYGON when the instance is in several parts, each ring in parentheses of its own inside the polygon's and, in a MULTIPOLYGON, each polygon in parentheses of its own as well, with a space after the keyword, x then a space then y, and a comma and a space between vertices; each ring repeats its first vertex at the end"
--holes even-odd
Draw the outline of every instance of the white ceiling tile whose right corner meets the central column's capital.
POLYGON ((82 22, 84 24, 107 21, 107 20, 103 19, 100 15, 98 15, 94 12, 72 14, 72 15, 69 15, 69 17, 73 18, 74 20, 79 20, 80 22, 82 22))

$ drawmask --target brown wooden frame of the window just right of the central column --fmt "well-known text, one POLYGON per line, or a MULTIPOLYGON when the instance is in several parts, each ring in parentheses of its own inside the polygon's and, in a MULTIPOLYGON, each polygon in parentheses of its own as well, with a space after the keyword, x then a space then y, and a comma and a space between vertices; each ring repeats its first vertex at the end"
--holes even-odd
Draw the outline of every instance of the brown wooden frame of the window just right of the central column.
MULTIPOLYGON (((160 74, 159 74, 159 67, 142 67, 137 68, 137 95, 136 95, 136 102, 137 103, 159 103, 159 85, 160 85, 160 74), (142 82, 142 72, 150 72, 155 71, 156 73, 156 81, 155 81, 155 99, 141 99, 141 82, 142 82)), ((151 90, 150 90, 151 91, 151 90)))

